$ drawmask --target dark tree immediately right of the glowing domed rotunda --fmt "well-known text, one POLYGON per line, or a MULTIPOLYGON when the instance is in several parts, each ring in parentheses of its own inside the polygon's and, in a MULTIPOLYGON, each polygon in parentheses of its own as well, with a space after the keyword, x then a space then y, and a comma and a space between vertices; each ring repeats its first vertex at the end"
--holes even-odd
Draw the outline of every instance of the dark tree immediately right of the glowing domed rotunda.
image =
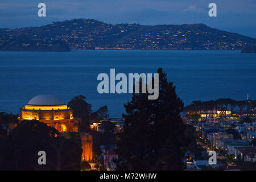
POLYGON ((81 131, 88 132, 89 131, 89 120, 90 115, 92 114, 92 105, 88 104, 85 101, 85 96, 77 96, 72 98, 71 101, 68 102, 68 106, 73 109, 73 116, 77 118, 81 118, 81 131))

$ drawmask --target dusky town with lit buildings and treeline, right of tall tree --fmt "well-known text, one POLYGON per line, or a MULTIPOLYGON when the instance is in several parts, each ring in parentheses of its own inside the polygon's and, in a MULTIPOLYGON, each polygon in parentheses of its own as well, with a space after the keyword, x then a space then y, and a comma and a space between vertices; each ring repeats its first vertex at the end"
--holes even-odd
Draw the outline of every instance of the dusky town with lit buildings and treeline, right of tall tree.
POLYGON ((197 154, 188 152, 187 170, 255 169, 255 101, 237 102, 220 99, 215 101, 220 106, 218 109, 217 106, 209 107, 210 102, 214 105, 214 101, 195 101, 187 106, 183 115, 184 122, 195 127, 197 146, 201 148, 201 152, 197 154), (235 107, 237 110, 234 109, 235 107), (209 151, 216 151, 217 164, 208 163, 209 151))

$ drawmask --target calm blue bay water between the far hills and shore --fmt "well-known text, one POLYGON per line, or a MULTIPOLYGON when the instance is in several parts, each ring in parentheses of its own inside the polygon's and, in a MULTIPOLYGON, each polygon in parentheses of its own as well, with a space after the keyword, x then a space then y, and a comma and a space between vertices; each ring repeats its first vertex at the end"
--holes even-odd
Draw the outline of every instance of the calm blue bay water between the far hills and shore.
POLYGON ((108 105, 120 117, 131 94, 98 94, 97 75, 155 73, 162 67, 178 96, 194 100, 256 100, 256 54, 240 51, 0 52, 0 111, 18 113, 34 96, 53 94, 66 104, 80 94, 93 109, 108 105))

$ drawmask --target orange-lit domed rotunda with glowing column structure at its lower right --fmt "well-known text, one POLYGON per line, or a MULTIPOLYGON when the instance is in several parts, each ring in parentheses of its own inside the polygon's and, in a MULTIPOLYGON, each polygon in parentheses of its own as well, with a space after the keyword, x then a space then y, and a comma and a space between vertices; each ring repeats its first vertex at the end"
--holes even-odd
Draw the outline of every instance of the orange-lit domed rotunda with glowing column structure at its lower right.
MULTIPOLYGON (((71 132, 79 132, 79 123, 81 122, 80 118, 73 118, 71 107, 51 95, 36 96, 19 109, 19 122, 32 119, 54 127, 65 137, 69 137, 71 132)), ((93 158, 92 135, 81 133, 80 138, 83 150, 81 160, 89 162, 93 158)))

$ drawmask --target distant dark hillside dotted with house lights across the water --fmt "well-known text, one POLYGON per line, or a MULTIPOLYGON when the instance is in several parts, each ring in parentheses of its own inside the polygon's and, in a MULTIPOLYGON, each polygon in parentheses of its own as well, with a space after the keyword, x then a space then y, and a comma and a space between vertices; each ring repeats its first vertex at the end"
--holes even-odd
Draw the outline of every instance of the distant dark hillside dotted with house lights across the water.
POLYGON ((242 49, 256 39, 205 24, 107 24, 94 19, 53 22, 42 27, 0 29, 2 51, 69 49, 242 49))

